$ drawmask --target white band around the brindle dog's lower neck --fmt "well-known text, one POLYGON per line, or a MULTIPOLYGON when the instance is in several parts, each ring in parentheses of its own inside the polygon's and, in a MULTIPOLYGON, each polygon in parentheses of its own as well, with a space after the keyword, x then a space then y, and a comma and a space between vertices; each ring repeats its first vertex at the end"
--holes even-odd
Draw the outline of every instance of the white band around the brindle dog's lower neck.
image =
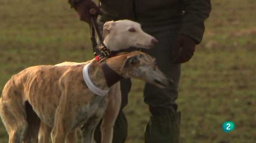
POLYGON ((97 88, 91 81, 90 76, 89 76, 89 66, 91 63, 88 63, 87 65, 85 65, 83 67, 83 79, 84 82, 86 83, 87 87, 96 95, 99 96, 105 96, 108 94, 109 89, 108 90, 102 90, 100 88, 97 88))

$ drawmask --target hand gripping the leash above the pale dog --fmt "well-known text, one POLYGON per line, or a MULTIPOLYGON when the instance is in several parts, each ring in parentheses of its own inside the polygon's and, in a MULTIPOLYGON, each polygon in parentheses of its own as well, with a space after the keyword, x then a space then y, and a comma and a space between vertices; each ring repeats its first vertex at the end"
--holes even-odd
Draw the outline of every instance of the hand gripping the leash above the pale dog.
POLYGON ((95 17, 97 18, 97 15, 100 13, 100 9, 93 1, 80 0, 79 3, 74 5, 74 9, 77 11, 80 20, 87 23, 90 23, 91 21, 90 9, 92 8, 95 8, 97 10, 97 14, 95 15, 95 17))

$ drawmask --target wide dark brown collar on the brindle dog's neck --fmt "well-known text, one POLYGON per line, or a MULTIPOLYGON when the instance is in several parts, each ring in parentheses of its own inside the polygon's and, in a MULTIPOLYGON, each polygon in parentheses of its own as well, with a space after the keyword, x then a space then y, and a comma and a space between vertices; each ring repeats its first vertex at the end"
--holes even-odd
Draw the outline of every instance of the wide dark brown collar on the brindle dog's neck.
POLYGON ((102 70, 103 70, 104 77, 108 87, 111 87, 115 83, 119 82, 121 79, 124 79, 122 75, 119 75, 118 73, 116 73, 106 63, 102 64, 102 70))

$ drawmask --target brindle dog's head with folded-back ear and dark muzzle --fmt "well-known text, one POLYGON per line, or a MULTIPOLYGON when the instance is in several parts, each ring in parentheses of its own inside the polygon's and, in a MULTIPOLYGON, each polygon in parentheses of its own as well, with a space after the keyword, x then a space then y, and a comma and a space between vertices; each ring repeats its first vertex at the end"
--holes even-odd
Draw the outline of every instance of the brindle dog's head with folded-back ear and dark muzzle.
POLYGON ((156 59, 140 51, 133 51, 127 56, 123 62, 121 73, 125 78, 141 79, 160 88, 173 84, 173 81, 159 70, 156 59))

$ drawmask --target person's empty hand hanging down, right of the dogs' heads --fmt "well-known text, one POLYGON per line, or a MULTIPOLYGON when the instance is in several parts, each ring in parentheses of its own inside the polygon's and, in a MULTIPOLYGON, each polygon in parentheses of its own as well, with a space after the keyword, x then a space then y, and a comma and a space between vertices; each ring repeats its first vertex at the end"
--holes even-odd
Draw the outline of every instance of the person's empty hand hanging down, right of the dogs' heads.
POLYGON ((180 64, 189 61, 195 52, 195 47, 196 41, 194 39, 178 34, 172 51, 173 63, 180 64))

